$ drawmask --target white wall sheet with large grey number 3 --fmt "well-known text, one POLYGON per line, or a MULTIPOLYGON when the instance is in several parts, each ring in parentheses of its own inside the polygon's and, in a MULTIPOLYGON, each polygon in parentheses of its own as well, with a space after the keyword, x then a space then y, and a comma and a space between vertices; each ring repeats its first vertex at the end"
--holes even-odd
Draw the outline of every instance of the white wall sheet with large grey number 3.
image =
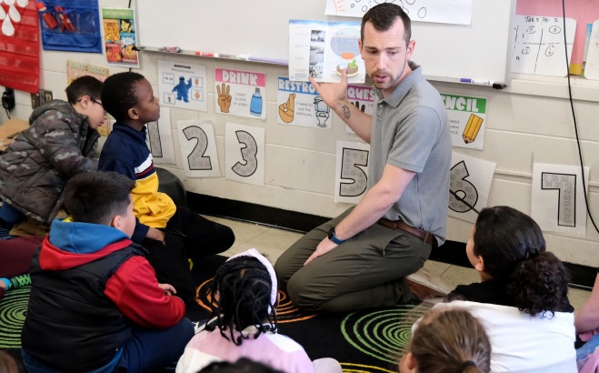
POLYGON ((265 129, 225 123, 225 177, 265 186, 265 129))

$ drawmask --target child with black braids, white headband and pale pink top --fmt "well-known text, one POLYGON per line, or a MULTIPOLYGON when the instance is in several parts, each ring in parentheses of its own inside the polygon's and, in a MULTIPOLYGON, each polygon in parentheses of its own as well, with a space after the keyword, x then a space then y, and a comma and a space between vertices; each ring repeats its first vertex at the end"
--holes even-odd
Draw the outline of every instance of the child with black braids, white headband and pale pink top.
POLYGON ((312 362, 293 339, 277 334, 275 268, 255 248, 230 257, 212 283, 211 319, 185 347, 177 373, 215 361, 251 358, 286 373, 339 372, 332 358, 312 362))

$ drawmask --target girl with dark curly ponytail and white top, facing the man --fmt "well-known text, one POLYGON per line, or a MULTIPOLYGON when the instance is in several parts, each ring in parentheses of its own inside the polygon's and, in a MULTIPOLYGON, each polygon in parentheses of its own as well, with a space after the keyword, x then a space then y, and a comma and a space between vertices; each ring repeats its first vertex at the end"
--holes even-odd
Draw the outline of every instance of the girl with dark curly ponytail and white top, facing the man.
POLYGON ((576 372, 568 274, 534 220, 512 207, 484 208, 466 254, 483 281, 456 287, 451 303, 434 308, 464 307, 483 322, 491 370, 576 372))

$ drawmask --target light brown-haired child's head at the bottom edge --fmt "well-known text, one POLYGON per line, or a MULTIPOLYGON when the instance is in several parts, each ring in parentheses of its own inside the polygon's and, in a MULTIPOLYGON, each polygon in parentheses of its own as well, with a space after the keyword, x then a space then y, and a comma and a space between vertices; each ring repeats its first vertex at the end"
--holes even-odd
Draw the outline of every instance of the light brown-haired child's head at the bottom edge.
POLYGON ((491 342, 465 309, 431 310, 413 327, 400 373, 481 373, 491 365, 491 342))

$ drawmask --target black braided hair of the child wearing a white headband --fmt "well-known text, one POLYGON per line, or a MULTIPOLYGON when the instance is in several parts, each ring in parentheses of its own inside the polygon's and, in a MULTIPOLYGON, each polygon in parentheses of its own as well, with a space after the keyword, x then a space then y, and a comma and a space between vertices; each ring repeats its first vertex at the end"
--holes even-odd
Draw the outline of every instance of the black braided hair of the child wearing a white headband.
POLYGON ((275 330, 276 313, 275 305, 270 302, 271 289, 271 277, 265 265, 255 257, 235 257, 226 261, 218 268, 211 287, 214 297, 211 318, 215 318, 216 323, 206 324, 206 329, 219 328, 221 335, 237 346, 249 338, 241 333, 249 326, 257 328, 255 338, 275 330))

